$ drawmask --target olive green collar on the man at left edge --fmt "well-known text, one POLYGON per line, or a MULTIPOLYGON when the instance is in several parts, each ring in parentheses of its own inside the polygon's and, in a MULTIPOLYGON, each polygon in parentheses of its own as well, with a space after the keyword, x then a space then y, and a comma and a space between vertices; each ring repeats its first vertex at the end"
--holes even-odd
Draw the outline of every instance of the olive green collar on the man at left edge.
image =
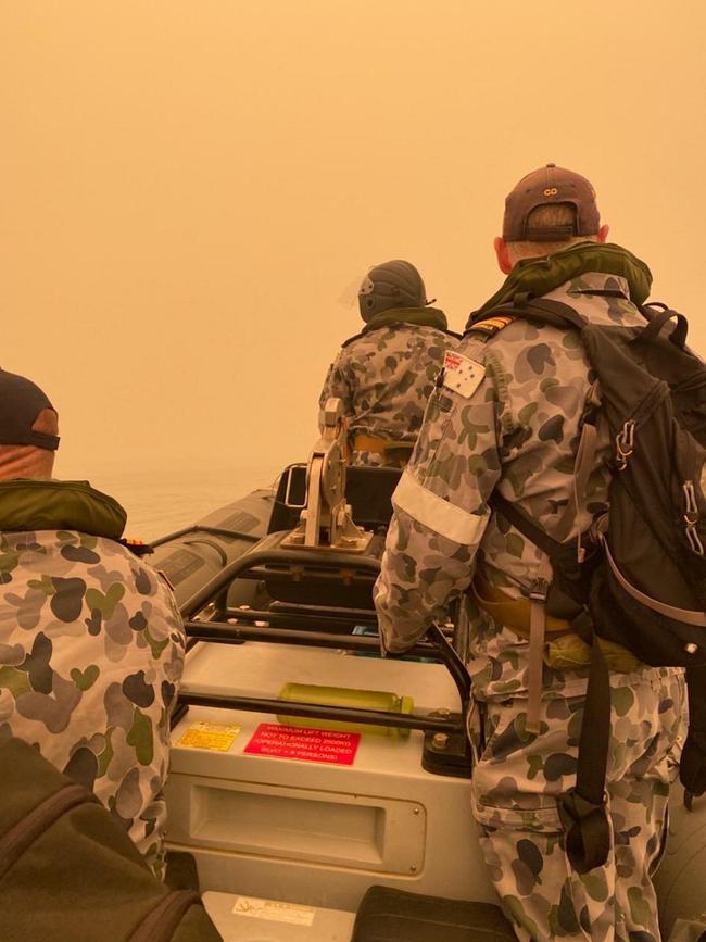
POLYGON ((0 530, 77 530, 119 540, 127 514, 88 481, 15 478, 0 481, 0 530))

